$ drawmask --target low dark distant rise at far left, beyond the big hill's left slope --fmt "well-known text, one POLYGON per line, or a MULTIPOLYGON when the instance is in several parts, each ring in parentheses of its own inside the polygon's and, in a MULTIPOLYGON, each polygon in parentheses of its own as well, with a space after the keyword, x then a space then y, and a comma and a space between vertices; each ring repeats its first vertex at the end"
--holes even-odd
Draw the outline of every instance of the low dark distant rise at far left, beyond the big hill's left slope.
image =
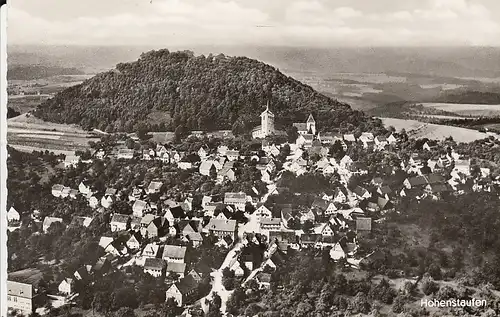
POLYGON ((7 70, 8 80, 33 80, 59 75, 84 75, 85 73, 76 68, 65 68, 56 66, 40 65, 15 65, 7 70))

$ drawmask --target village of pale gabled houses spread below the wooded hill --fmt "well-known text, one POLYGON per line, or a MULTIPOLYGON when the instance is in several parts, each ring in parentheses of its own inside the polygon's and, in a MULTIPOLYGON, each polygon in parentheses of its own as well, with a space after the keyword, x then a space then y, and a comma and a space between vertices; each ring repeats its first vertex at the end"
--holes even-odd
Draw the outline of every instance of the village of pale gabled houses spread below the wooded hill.
MULTIPOLYGON (((9 206, 9 230, 19 229, 25 223, 21 218, 27 214, 31 215, 30 221, 39 224, 41 234, 56 224, 89 227, 96 215, 109 212, 114 204, 128 205, 131 213, 110 214, 109 234, 96 237, 104 255, 61 279, 59 292, 49 296, 52 306, 74 301, 78 297, 75 283, 94 283, 97 276, 139 267, 170 285, 165 291, 166 301, 173 299, 183 308, 198 303, 207 310, 205 299, 217 294, 222 299, 221 311, 225 312, 231 294, 225 286, 228 279, 241 285, 254 281, 259 288, 269 288, 271 272, 287 261, 291 250, 327 251, 332 261, 360 268, 376 250, 360 254, 359 242, 371 235, 372 228, 388 213, 402 212, 394 206, 403 197, 440 200, 468 191, 492 192, 500 184, 500 179, 485 167, 487 164, 474 164, 473 157, 457 153, 447 146, 447 141, 421 142, 419 149, 407 153, 401 148, 407 138, 395 131, 385 135, 320 133, 313 115, 293 126, 297 131, 295 142, 272 142, 273 136, 284 132, 275 128, 268 105, 261 114, 261 125, 252 132, 261 147, 247 153, 225 145, 224 140, 232 139, 231 133, 225 132, 211 136, 221 138, 221 145, 203 145, 192 153, 156 144, 149 149, 123 145, 112 151, 96 148, 92 157, 85 159, 68 155, 61 161, 66 171, 96 161, 158 161, 169 168, 210 178, 217 186, 238 183, 243 177, 241 171, 251 167, 258 171, 260 186, 248 192, 201 197, 185 192, 170 197, 161 177, 136 184, 129 192, 107 186, 96 190, 90 185, 91 179, 81 181, 77 187, 56 183, 51 184, 54 199, 83 198, 94 213, 73 216, 67 223, 62 217, 42 218, 36 210, 9 206), (348 155, 352 149, 374 153, 373 157, 380 154, 384 160, 365 162, 365 156, 348 155), (308 186, 305 180, 309 175, 326 179, 329 184, 313 189, 314 200, 308 206, 276 199, 290 189, 287 187, 308 186), (219 267, 191 261, 192 250, 207 245, 225 250, 219 267), (210 281, 209 287, 200 292, 203 279, 210 281)), ((202 138, 210 136, 201 131, 187 136, 202 138)), ((43 312, 36 283, 20 276, 22 272, 9 273, 9 307, 26 315, 35 309, 43 312)))

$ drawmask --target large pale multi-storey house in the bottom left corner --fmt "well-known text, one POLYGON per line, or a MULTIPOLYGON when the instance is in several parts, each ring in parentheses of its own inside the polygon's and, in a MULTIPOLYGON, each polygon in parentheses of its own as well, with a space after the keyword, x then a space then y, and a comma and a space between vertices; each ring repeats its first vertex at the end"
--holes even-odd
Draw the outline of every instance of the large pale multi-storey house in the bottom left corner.
POLYGON ((29 316, 36 309, 38 294, 28 281, 17 282, 7 279, 7 307, 29 316))

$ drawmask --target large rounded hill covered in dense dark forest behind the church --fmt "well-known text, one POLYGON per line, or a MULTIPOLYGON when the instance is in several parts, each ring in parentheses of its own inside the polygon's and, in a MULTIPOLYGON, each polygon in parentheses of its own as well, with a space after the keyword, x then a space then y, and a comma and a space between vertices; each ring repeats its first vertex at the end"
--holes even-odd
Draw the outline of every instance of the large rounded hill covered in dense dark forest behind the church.
POLYGON ((276 119, 320 128, 357 126, 363 113, 332 100, 272 66, 246 57, 207 57, 168 50, 143 53, 44 102, 35 115, 84 128, 134 131, 233 129, 248 131, 269 101, 276 119))

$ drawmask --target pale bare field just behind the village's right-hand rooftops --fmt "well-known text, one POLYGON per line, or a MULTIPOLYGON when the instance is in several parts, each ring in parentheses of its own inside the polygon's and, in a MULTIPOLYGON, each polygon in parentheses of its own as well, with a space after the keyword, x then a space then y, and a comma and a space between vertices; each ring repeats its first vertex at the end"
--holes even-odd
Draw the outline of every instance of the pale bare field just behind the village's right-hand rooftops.
POLYGON ((396 131, 405 129, 411 138, 429 138, 432 140, 444 140, 453 137, 457 142, 472 142, 489 137, 488 134, 446 125, 424 123, 416 120, 404 120, 395 118, 380 118, 384 125, 393 126, 396 131))

